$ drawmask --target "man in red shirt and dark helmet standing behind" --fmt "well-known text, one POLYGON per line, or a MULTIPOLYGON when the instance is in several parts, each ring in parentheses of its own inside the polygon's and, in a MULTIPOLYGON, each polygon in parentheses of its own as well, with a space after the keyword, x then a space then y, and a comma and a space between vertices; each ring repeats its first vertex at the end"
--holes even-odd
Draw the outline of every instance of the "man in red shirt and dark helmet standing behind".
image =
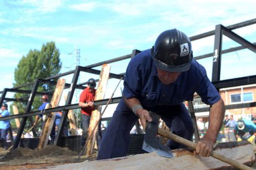
POLYGON ((90 118, 92 115, 92 111, 95 109, 93 107, 93 101, 95 100, 95 92, 96 92, 96 81, 93 78, 88 79, 87 81, 88 87, 86 87, 79 98, 79 106, 81 107, 81 118, 82 118, 82 147, 85 145, 85 141, 87 139, 88 127, 90 123, 90 118))

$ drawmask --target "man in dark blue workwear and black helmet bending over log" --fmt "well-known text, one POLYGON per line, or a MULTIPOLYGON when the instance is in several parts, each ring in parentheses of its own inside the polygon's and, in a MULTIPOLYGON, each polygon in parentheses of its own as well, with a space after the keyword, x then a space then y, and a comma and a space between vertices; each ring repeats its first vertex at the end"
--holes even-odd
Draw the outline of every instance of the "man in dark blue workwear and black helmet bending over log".
MULTIPOLYGON (((114 111, 98 152, 98 160, 126 156, 130 130, 140 119, 143 129, 153 111, 171 132, 192 140, 194 126, 183 104, 197 92, 211 105, 207 132, 197 143, 195 155, 210 156, 224 118, 224 102, 207 77, 205 68, 193 59, 191 42, 182 31, 161 33, 151 49, 136 55, 126 70, 122 99, 114 111)), ((171 149, 184 145, 169 142, 171 149)))

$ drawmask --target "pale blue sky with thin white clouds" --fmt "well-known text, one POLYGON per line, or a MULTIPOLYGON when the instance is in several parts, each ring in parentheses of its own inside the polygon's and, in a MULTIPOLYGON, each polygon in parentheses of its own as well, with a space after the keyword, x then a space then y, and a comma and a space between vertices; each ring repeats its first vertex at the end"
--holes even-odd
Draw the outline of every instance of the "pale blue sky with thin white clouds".
MULTIPOLYGON (((65 73, 76 65, 87 66, 131 54, 134 49, 148 49, 161 32, 172 28, 190 37, 215 30, 218 24, 229 26, 252 20, 256 18, 255 6, 254 0, 0 0, 0 91, 13 87, 14 71, 22 56, 40 50, 46 42, 56 43, 61 53, 61 73, 65 73)), ((234 32, 256 42, 256 25, 234 32)), ((226 37, 223 42, 223 49, 239 46, 226 37)), ((194 57, 213 52, 213 46, 214 36, 192 41, 194 57)), ((221 79, 256 74, 254 52, 244 50, 224 56, 221 79)), ((128 62, 111 63, 111 73, 124 73, 128 62)), ((211 77, 212 58, 198 62, 211 77)), ((80 75, 79 81, 85 82, 90 76, 98 78, 80 75)), ((109 82, 106 97, 113 94, 118 80, 109 82)), ((114 96, 121 90, 122 83, 114 96)))

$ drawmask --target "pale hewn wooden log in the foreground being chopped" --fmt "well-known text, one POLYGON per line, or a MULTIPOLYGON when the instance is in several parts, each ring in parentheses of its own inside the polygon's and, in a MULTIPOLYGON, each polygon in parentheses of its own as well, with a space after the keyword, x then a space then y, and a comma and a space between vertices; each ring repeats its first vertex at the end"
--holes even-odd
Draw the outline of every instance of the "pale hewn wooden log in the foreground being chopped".
MULTIPOLYGON (((153 152, 110 160, 84 161, 51 169, 233 169, 233 166, 213 157, 196 157, 188 148, 172 150, 172 152, 174 158, 164 158, 153 152)), ((236 147, 216 148, 216 152, 239 163, 249 165, 255 162, 253 146, 248 143, 236 147)))

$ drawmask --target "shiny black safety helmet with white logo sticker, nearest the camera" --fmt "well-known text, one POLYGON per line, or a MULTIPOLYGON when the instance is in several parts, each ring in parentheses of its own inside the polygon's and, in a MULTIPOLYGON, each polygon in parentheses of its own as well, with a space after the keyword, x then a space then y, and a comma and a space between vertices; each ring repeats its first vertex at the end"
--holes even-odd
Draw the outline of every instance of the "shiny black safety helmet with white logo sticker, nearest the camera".
POLYGON ((157 68, 169 72, 183 72, 190 68, 193 54, 189 37, 177 29, 166 30, 151 48, 157 68))

